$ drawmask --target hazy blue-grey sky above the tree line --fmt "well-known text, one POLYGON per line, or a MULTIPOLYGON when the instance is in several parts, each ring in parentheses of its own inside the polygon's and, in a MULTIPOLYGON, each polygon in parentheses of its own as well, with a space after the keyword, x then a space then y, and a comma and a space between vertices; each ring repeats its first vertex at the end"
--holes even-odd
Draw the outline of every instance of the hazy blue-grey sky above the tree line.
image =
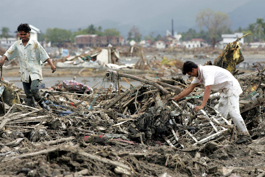
POLYGON ((117 28, 126 35, 133 25, 155 33, 196 28, 195 15, 211 8, 225 13, 255 0, 0 0, 0 29, 14 32, 20 23, 47 28, 77 30, 89 24, 117 28))

